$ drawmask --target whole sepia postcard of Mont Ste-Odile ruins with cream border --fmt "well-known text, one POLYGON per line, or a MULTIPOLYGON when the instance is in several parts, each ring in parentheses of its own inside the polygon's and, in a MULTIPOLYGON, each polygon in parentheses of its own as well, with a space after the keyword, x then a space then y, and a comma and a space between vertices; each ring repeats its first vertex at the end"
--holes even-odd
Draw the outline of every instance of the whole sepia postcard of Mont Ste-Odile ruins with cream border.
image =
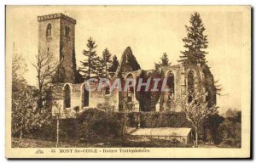
POLYGON ((250 6, 5 10, 6 157, 251 156, 250 6))

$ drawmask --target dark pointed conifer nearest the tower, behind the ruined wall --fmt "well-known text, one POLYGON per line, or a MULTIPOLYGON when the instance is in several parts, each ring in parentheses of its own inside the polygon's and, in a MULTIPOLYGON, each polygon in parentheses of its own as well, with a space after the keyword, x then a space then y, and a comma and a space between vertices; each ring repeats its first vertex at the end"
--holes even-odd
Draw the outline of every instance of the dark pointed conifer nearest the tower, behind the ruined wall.
POLYGON ((97 61, 98 57, 96 54, 95 48, 97 47, 96 42, 93 41, 93 39, 90 37, 87 40, 87 48, 88 50, 83 51, 83 54, 85 56, 84 61, 80 61, 82 66, 79 67, 79 71, 82 73, 84 76, 84 79, 90 78, 91 74, 96 74, 96 66, 97 66, 97 61))

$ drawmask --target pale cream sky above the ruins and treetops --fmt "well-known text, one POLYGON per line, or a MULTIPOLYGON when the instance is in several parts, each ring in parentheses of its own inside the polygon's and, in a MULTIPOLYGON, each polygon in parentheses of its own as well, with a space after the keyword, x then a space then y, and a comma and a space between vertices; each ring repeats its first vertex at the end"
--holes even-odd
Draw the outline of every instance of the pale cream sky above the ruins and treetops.
MULTIPOLYGON (((75 52, 77 65, 83 59, 87 39, 97 44, 96 52, 104 48, 120 59, 130 46, 143 70, 154 68, 166 52, 172 65, 183 51, 182 38, 190 15, 201 14, 208 38, 207 61, 214 80, 223 87, 217 104, 222 114, 229 108, 241 110, 242 13, 228 7, 168 7, 168 6, 20 6, 7 7, 6 48, 15 48, 26 59, 26 80, 36 85, 36 71, 32 67, 38 53, 38 15, 62 13, 77 20, 75 52)), ((6 53, 12 55, 12 53, 6 53)))

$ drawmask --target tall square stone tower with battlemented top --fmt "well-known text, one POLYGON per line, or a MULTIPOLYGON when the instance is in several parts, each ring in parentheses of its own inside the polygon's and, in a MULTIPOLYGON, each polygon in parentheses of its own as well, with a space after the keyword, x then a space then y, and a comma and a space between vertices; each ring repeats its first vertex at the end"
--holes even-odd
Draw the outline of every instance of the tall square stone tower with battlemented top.
POLYGON ((55 82, 75 82, 75 25, 65 14, 38 16, 38 51, 52 53, 59 61, 55 82))

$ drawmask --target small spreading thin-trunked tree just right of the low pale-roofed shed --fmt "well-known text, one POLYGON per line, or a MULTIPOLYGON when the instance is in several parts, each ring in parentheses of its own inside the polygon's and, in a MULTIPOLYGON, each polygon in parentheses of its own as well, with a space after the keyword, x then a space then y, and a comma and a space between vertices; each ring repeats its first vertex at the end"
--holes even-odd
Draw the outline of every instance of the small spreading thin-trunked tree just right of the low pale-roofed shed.
POLYGON ((207 106, 207 102, 203 101, 205 94, 197 93, 191 102, 189 102, 189 96, 189 93, 184 93, 182 96, 173 99, 173 101, 174 104, 181 107, 195 128, 195 147, 198 147, 198 132, 201 129, 201 125, 208 116, 217 113, 217 107, 207 106))

